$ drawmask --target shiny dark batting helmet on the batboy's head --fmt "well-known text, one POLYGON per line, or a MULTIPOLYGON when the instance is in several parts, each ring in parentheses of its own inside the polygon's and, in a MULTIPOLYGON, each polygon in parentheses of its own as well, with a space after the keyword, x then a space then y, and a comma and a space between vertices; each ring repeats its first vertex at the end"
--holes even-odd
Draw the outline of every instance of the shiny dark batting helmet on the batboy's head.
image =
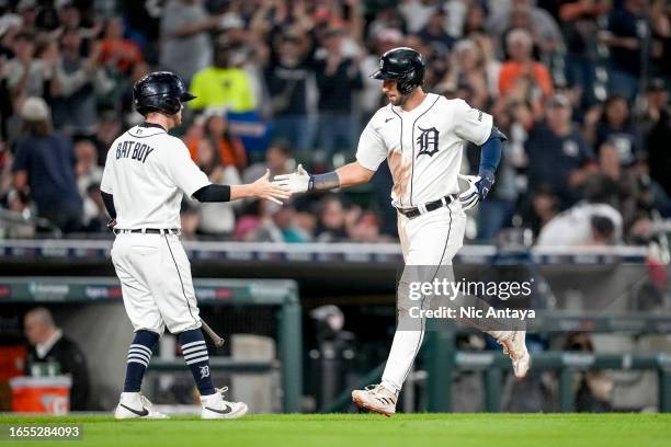
POLYGON ((173 115, 182 108, 182 103, 195 96, 186 91, 184 81, 170 71, 156 71, 144 76, 133 87, 133 103, 143 115, 162 112, 173 115))

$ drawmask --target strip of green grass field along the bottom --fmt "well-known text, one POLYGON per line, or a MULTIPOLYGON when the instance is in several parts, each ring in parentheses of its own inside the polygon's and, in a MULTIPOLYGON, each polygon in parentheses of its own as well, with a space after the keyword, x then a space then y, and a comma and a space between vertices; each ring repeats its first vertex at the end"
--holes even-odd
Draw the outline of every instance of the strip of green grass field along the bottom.
MULTIPOLYGON (((8 424, 82 424, 83 439, 15 446, 671 446, 671 414, 252 415, 238 421, 117 422, 105 416, 0 416, 8 424)), ((3 431, 7 433, 7 429, 3 431)), ((5 438, 7 439, 7 438, 5 438)), ((0 440, 0 447, 5 440, 0 440)))

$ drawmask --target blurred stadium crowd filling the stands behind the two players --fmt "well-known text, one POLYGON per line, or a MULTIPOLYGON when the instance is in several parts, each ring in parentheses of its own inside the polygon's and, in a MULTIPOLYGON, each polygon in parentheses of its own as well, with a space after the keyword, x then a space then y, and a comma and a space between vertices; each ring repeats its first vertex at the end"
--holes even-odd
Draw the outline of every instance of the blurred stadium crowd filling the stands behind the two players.
MULTIPOLYGON (((1 204, 103 234, 105 153, 141 122, 132 85, 157 69, 198 96, 179 135, 213 182, 323 172, 353 159, 384 104, 367 74, 397 46, 424 56, 425 90, 509 136, 471 238, 518 227, 538 243, 645 243, 671 214, 664 0, 0 0, 1 204)), ((477 148, 467 156, 474 172, 477 148)), ((185 202, 183 233, 395 239, 390 182, 380 168, 369 191, 284 207, 185 202)))

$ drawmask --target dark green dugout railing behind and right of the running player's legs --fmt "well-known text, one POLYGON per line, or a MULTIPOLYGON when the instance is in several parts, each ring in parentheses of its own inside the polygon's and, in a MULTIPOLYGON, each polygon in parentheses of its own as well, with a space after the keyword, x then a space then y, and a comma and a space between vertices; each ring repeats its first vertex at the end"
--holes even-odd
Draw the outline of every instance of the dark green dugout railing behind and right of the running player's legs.
MULTIPOLYGON (((424 369, 427 371, 427 411, 451 412, 453 377, 457 370, 473 370, 481 374, 484 410, 490 413, 501 411, 504 375, 512 369, 508 356, 498 351, 464 352, 456 349, 456 335, 459 331, 455 323, 441 321, 437 326, 429 321, 429 330, 423 346, 424 369), (433 324, 433 328, 431 326, 433 324)), ((655 314, 626 314, 583 317, 559 313, 542 314, 527 328, 532 332, 543 332, 561 328, 611 333, 624 331, 636 334, 671 332, 671 317, 655 314)), ((354 388, 379 382, 385 364, 378 365, 362 377, 354 388)), ((554 370, 559 380, 559 409, 561 412, 576 410, 573 389, 575 375, 593 369, 613 370, 656 370, 658 387, 658 409, 671 413, 671 353, 580 353, 546 351, 532 353, 532 368, 554 370)), ((320 409, 322 413, 345 411, 351 405, 351 391, 344 390, 329 405, 320 409)))

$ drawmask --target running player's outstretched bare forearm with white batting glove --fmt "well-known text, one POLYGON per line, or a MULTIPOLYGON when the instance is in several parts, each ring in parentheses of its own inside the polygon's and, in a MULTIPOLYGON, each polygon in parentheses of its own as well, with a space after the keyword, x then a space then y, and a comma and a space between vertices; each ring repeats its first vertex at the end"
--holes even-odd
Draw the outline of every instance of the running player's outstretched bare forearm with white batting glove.
POLYGON ((325 174, 311 175, 298 164, 296 172, 275 175, 273 184, 288 188, 292 193, 309 193, 312 191, 330 191, 368 183, 375 174, 359 161, 338 168, 325 174))

